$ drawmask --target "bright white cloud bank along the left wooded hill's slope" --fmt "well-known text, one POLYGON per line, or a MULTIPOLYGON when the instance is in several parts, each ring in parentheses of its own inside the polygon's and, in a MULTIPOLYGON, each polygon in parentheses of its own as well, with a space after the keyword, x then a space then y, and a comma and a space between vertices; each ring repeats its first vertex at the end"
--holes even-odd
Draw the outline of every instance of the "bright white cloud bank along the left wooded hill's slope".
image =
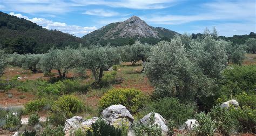
POLYGON ((88 27, 88 26, 78 26, 78 25, 68 25, 66 23, 61 23, 61 22, 53 22, 45 18, 32 18, 30 19, 29 17, 23 16, 21 13, 14 13, 10 12, 9 13, 12 16, 17 16, 19 18, 25 18, 33 23, 37 23, 38 25, 42 25, 43 28, 49 29, 49 30, 59 30, 62 32, 70 33, 71 35, 75 35, 78 37, 82 37, 86 35, 87 33, 90 33, 94 30, 96 30, 96 26, 88 27))

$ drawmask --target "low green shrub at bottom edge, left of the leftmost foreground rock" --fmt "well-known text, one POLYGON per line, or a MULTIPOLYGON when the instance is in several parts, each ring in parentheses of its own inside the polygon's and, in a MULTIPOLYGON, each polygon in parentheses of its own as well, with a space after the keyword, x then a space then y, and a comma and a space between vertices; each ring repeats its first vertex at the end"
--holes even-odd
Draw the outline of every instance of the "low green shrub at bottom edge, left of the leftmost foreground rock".
POLYGON ((64 127, 61 125, 58 125, 57 127, 53 126, 46 126, 41 133, 42 136, 49 136, 49 135, 58 135, 58 136, 64 136, 64 127))

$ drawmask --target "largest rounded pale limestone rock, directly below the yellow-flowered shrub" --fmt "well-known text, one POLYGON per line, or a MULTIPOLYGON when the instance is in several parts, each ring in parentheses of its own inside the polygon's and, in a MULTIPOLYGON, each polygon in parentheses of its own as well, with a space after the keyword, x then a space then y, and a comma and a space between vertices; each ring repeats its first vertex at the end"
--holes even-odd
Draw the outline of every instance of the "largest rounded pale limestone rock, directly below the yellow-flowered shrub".
POLYGON ((120 104, 105 108, 105 110, 102 112, 102 116, 103 119, 106 119, 112 125, 127 123, 129 126, 131 126, 134 120, 126 107, 120 104))

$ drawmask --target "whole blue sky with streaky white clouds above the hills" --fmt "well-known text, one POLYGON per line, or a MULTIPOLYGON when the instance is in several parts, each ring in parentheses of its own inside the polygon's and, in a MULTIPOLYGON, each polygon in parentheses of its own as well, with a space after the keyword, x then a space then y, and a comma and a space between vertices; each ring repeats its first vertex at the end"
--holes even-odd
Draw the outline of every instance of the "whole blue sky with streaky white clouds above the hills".
POLYGON ((255 0, 0 0, 0 11, 77 37, 131 16, 181 34, 256 32, 255 0))

